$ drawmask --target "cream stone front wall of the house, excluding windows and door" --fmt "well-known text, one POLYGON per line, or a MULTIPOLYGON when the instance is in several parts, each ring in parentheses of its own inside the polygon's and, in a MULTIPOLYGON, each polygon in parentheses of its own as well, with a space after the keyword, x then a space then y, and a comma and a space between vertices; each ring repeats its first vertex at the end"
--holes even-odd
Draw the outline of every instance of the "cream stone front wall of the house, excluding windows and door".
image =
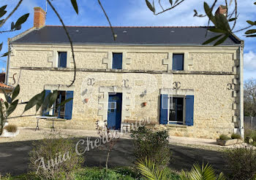
MULTIPOLYGON (((69 44, 12 44, 12 50, 8 83, 19 83, 21 101, 44 89, 74 90, 72 120, 56 122, 57 128, 94 130, 97 120, 107 118, 108 93, 113 91, 123 93, 121 122, 149 118, 156 122, 155 129, 167 129, 171 136, 196 138, 238 131, 239 47, 75 46, 77 74, 72 87, 67 87, 74 75, 69 44), (67 69, 56 68, 58 51, 67 52, 67 69), (123 52, 123 69, 110 69, 112 52, 123 52), (184 53, 184 71, 171 70, 173 53, 184 53), (89 79, 94 85, 88 85, 89 79), (179 82, 178 90, 173 82, 179 82), (170 95, 193 93, 194 125, 159 125, 161 90, 170 90, 170 95)), ((12 115, 20 115, 23 108, 18 106, 12 115)), ((36 126, 34 117, 10 123, 36 126)), ((39 126, 49 128, 51 122, 42 120, 39 126)))

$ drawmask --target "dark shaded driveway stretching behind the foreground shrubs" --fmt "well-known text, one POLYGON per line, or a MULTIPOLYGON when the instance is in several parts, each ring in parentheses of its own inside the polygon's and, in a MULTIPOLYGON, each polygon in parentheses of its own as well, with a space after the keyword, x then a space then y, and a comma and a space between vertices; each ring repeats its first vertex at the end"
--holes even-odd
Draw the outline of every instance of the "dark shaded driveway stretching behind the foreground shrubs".
MULTIPOLYGON (((79 139, 75 139, 78 141, 79 139)), ((86 138, 84 138, 86 141, 86 138)), ((93 141, 94 138, 91 138, 93 141)), ((34 141, 18 141, 0 144, 0 173, 11 173, 20 175, 29 171, 29 152, 34 141)), ((86 145, 84 145, 86 146, 86 145)), ((156 147, 157 148, 157 147, 156 147)), ((170 145, 173 160, 169 167, 176 171, 190 170, 195 162, 210 163, 217 171, 223 171, 225 165, 225 154, 205 149, 195 149, 186 146, 170 145)), ((84 166, 105 166, 107 152, 99 149, 90 149, 84 154, 84 166)), ((134 165, 132 140, 120 139, 112 152, 110 152, 109 167, 134 165)))

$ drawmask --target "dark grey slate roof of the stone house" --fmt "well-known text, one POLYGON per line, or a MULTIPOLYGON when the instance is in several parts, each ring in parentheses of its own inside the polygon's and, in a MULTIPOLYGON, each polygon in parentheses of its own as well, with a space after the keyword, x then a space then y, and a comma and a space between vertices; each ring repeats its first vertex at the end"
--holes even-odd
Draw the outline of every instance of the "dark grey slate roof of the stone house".
MULTIPOLYGON (((207 39, 218 34, 206 31, 208 27, 113 27, 116 41, 110 27, 106 26, 67 26, 74 44, 133 44, 133 45, 202 45, 207 39), (205 37, 206 36, 206 37, 205 37)), ((55 44, 69 43, 62 26, 44 26, 30 31, 12 43, 55 44)), ((211 43, 211 44, 214 44, 211 43)), ((230 36, 222 45, 239 45, 241 40, 230 36)))

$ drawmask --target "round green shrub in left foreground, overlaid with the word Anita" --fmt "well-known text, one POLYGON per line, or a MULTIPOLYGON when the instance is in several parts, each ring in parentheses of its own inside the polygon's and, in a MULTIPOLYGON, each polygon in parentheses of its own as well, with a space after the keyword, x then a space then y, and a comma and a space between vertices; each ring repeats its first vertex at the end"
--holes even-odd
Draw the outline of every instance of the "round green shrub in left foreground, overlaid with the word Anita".
POLYGON ((83 157, 75 153, 75 144, 70 138, 50 133, 42 141, 34 143, 30 162, 29 167, 40 179, 73 179, 83 157))

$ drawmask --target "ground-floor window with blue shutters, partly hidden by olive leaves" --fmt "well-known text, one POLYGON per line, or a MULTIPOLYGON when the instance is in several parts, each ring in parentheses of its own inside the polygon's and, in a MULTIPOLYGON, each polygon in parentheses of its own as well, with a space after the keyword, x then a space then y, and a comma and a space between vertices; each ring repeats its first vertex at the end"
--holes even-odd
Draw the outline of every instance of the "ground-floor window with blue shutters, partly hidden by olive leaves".
MULTIPOLYGON (((50 94, 51 90, 45 90, 45 98, 50 94)), ((68 101, 63 106, 58 106, 63 101, 73 98, 73 91, 64 91, 60 90, 58 91, 58 96, 53 104, 53 110, 45 112, 44 109, 42 109, 42 115, 53 115, 55 117, 65 119, 65 120, 71 120, 72 119, 72 106, 73 106, 73 100, 68 101), (56 107, 58 106, 58 107, 56 107)))

